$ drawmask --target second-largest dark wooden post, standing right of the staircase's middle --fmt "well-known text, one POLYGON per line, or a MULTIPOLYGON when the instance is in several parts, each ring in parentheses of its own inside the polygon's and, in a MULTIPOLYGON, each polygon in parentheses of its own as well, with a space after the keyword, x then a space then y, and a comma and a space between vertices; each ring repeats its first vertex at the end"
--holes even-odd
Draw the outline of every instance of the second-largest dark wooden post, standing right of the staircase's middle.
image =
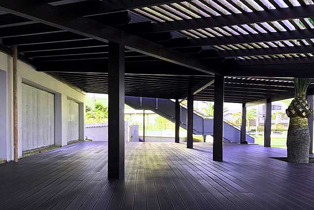
POLYGON ((222 75, 215 74, 214 87, 214 140, 213 140, 213 160, 223 160, 224 142, 224 82, 222 75))

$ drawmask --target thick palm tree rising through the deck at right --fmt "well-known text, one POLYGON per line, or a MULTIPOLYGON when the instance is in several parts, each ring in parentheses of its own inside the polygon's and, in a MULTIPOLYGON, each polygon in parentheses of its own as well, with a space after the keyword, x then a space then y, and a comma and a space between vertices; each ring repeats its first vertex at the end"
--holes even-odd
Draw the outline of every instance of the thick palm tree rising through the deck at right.
POLYGON ((290 117, 287 135, 288 162, 309 163, 310 133, 308 118, 313 109, 306 100, 306 90, 311 79, 295 78, 295 98, 286 109, 290 117))

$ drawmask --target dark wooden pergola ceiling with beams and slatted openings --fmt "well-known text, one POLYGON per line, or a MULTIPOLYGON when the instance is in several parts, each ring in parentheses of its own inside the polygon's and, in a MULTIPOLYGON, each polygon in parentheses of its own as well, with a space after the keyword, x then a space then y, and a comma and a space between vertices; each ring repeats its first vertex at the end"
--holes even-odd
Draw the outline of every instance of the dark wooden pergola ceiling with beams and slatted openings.
MULTIPOLYGON (((313 78, 312 0, 1 0, 1 50, 85 92, 108 93, 108 41, 125 45, 125 95, 225 102, 294 96, 313 78)), ((314 84, 311 84, 312 91, 314 84)))

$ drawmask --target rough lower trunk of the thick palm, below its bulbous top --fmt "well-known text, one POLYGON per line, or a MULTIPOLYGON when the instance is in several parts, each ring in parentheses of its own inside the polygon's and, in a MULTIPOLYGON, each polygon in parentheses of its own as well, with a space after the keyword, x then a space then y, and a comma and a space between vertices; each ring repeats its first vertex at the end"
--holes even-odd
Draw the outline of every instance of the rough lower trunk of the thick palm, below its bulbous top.
POLYGON ((290 118, 287 136, 287 157, 290 163, 309 163, 310 133, 308 119, 290 118))

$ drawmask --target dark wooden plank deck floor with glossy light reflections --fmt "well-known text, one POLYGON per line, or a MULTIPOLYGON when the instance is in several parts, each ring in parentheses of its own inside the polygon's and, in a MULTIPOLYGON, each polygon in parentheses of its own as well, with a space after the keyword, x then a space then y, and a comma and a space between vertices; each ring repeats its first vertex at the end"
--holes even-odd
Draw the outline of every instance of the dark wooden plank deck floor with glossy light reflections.
POLYGON ((0 165, 0 210, 313 210, 314 165, 284 149, 126 143, 125 180, 107 179, 107 143, 81 142, 0 165))

